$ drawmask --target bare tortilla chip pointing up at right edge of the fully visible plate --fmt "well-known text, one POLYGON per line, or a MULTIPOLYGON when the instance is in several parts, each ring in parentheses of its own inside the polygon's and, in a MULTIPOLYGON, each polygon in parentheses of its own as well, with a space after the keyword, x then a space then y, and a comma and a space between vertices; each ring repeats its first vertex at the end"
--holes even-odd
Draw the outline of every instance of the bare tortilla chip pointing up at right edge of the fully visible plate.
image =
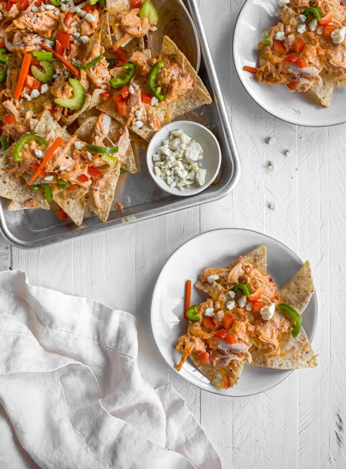
POLYGON ((301 269, 281 288, 278 293, 280 303, 286 303, 302 314, 308 306, 312 294, 314 293, 314 281, 308 261, 301 269))

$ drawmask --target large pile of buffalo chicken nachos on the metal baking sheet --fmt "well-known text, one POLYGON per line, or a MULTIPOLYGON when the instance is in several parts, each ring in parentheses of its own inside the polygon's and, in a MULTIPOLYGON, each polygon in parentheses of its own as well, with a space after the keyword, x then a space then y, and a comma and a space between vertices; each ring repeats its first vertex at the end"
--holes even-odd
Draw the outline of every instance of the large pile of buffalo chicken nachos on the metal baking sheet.
POLYGON ((149 0, 0 2, 0 196, 105 221, 120 173, 165 123, 211 102, 149 0))

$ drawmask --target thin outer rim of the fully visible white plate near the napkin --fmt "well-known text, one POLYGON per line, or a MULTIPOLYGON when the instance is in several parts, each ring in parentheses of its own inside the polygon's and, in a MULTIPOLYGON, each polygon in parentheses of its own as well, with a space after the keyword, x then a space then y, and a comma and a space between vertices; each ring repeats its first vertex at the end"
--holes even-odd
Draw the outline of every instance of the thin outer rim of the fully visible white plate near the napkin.
MULTIPOLYGON (((181 244, 177 249, 175 249, 172 254, 166 259, 165 261, 165 264, 162 266, 159 274, 158 274, 158 278, 156 279, 155 281, 155 284, 154 284, 154 287, 153 287, 153 290, 152 290, 152 293, 151 293, 151 299, 150 299, 150 329, 151 329, 151 334, 154 338, 154 342, 156 344, 156 347, 158 348, 158 351, 160 352, 160 355, 161 357, 164 359, 166 365, 168 365, 175 373, 177 373, 181 378, 185 379, 185 381, 187 381, 188 383, 192 384, 193 386, 196 386, 198 389, 201 389, 201 391, 206 391, 208 393, 212 393, 212 394, 217 394, 219 396, 226 396, 226 397, 248 397, 248 396, 255 396, 256 394, 261 394, 261 393, 265 393, 266 391, 269 391, 270 389, 273 389, 274 387, 278 386, 279 384, 281 384, 286 378, 288 378, 292 373, 293 371, 297 371, 297 370, 283 370, 283 371, 287 371, 287 373, 283 376, 282 379, 280 379, 275 385, 273 386, 269 386, 267 387, 266 389, 263 389, 263 391, 256 391, 254 393, 247 393, 247 394, 242 394, 241 396, 240 395, 232 395, 232 394, 224 394, 224 393, 220 393, 218 390, 214 390, 212 387, 211 389, 203 389, 201 386, 198 386, 196 385, 195 383, 193 383, 191 380, 189 380, 187 377, 181 375, 179 373, 179 371, 177 371, 170 363, 168 363, 161 351, 161 347, 159 346, 159 343, 158 343, 158 340, 157 340, 157 337, 154 333, 154 328, 153 328, 153 300, 154 300, 154 295, 155 295, 155 291, 156 291, 156 288, 157 288, 157 285, 158 285, 158 280, 161 276, 161 273, 163 271, 163 269, 165 268, 165 265, 169 262, 169 260, 171 259, 171 257, 173 257, 175 255, 175 253, 180 250, 183 246, 185 246, 185 244, 187 244, 188 242, 198 238, 199 236, 203 236, 205 234, 209 234, 209 233, 213 233, 213 232, 217 232, 217 231, 225 231, 225 230, 237 230, 237 231, 246 231, 246 232, 249 232, 249 233, 255 233, 255 234, 260 234, 262 236, 265 236, 266 238, 269 238, 279 244, 281 244, 284 248, 288 249, 289 251, 291 251, 291 253, 293 254, 294 257, 297 258, 297 260, 301 263, 301 266, 304 265, 304 262, 301 260, 301 258, 298 256, 298 254, 296 254, 291 248, 289 248, 288 246, 286 246, 286 244, 284 244, 283 242, 281 241, 278 241, 276 238, 273 238, 272 236, 269 236, 268 234, 264 234, 264 233, 260 233, 259 231, 256 231, 256 230, 250 230, 248 228, 236 228, 236 227, 224 227, 224 228, 214 228, 212 230, 208 230, 208 231, 204 231, 203 233, 199 233, 199 234, 196 234, 195 236, 193 236, 192 238, 188 239, 187 241, 185 241, 183 244, 181 244)), ((317 328, 317 321, 318 321, 318 298, 317 298, 317 294, 316 294, 316 288, 315 288, 315 285, 314 285, 314 293, 313 295, 316 295, 316 322, 315 322, 315 326, 313 327, 312 331, 311 331, 311 338, 308 337, 309 339, 309 342, 312 343, 312 341, 314 340, 314 337, 315 337, 315 333, 316 333, 316 328, 317 328)), ((250 365, 248 365, 250 366, 250 365)), ((255 366, 255 365, 252 365, 252 366, 255 366)), ((230 389, 233 389, 233 388, 230 388, 230 389)))

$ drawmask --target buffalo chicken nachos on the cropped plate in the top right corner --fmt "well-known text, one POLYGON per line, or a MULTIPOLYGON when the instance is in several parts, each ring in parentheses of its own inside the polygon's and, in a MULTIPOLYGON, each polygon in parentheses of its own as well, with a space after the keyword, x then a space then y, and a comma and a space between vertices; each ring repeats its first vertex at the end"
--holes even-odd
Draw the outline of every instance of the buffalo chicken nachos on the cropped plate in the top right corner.
POLYGON ((339 0, 279 0, 279 23, 258 43, 259 82, 311 90, 325 107, 346 81, 346 8, 339 0))

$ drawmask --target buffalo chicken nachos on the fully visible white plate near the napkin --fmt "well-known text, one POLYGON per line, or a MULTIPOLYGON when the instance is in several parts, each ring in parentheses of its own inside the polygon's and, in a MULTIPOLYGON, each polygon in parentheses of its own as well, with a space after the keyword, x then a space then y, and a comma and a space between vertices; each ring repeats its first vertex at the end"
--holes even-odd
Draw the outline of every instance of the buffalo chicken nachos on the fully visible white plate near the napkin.
POLYGON ((238 383, 244 363, 281 369, 315 367, 316 356, 301 327, 313 294, 309 263, 283 287, 267 274, 266 248, 259 246, 226 268, 208 268, 195 287, 208 299, 185 306, 188 332, 175 347, 181 370, 190 357, 218 389, 238 383))

